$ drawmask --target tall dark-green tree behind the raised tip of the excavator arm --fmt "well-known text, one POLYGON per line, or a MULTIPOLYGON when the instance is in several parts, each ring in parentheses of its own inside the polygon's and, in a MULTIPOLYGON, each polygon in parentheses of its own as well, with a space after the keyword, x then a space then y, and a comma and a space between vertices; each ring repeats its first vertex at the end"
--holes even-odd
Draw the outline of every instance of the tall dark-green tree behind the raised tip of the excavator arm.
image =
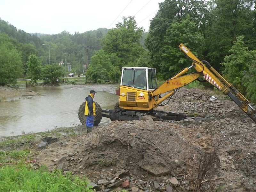
POLYGON ((152 66, 160 70, 164 79, 187 63, 185 57, 181 56, 183 53, 179 52, 180 43, 187 43, 195 53, 204 52, 200 26, 204 24, 202 21, 207 12, 202 0, 166 0, 159 5, 159 11, 150 23, 145 44, 152 66))

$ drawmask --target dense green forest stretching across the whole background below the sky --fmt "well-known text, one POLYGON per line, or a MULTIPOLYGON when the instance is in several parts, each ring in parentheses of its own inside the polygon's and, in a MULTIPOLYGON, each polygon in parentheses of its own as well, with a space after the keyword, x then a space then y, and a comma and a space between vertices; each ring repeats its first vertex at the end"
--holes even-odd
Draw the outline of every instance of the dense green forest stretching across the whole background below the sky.
POLYGON ((88 82, 118 82, 123 66, 154 67, 158 77, 167 79, 191 64, 179 50, 183 43, 256 102, 255 18, 252 0, 165 0, 148 32, 132 16, 112 29, 52 35, 28 34, 0 20, 0 77, 12 71, 0 84, 43 73, 48 63, 62 60, 70 63, 71 72, 82 73, 87 49, 88 82))

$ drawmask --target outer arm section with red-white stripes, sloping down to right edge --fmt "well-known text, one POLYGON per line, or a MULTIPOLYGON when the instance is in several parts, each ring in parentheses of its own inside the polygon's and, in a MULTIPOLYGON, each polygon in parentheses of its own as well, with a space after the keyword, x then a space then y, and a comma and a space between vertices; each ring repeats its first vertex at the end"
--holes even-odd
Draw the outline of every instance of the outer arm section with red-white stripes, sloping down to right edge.
MULTIPOLYGON (((256 110, 249 104, 249 100, 247 100, 244 95, 238 92, 232 84, 228 83, 207 61, 198 60, 198 58, 190 52, 184 44, 180 44, 179 47, 188 58, 193 60, 192 66, 201 74, 201 76, 204 76, 206 81, 228 95, 249 117, 252 118, 254 122, 256 122, 256 110), (206 63, 207 67, 204 63, 206 63)), ((177 75, 172 78, 176 78, 177 75)))

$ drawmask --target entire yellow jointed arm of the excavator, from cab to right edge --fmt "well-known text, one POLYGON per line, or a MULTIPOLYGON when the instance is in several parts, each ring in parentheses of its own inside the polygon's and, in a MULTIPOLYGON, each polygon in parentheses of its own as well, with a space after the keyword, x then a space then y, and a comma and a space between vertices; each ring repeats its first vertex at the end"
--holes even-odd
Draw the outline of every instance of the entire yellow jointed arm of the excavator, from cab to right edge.
POLYGON ((157 101, 157 104, 163 102, 168 97, 175 93, 175 90, 185 86, 188 83, 196 80, 198 77, 204 77, 206 81, 211 83, 216 88, 220 89, 224 94, 228 95, 254 122, 256 122, 256 110, 252 108, 244 95, 236 90, 236 88, 228 83, 207 61, 200 61, 184 44, 179 45, 180 50, 182 50, 192 62, 192 66, 197 72, 184 75, 188 72, 189 68, 184 68, 178 74, 173 76, 159 86, 155 91, 153 91, 153 96, 159 95, 161 93, 170 92, 163 98, 157 101), (204 65, 207 64, 207 67, 204 65))

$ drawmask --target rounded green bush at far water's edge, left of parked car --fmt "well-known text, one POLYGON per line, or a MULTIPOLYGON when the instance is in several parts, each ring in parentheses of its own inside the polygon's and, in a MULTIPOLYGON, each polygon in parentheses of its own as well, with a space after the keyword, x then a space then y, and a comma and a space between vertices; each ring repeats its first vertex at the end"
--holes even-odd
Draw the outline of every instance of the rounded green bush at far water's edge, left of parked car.
POLYGON ((58 64, 46 65, 42 69, 42 78, 44 83, 57 84, 57 79, 62 76, 63 67, 58 64))

